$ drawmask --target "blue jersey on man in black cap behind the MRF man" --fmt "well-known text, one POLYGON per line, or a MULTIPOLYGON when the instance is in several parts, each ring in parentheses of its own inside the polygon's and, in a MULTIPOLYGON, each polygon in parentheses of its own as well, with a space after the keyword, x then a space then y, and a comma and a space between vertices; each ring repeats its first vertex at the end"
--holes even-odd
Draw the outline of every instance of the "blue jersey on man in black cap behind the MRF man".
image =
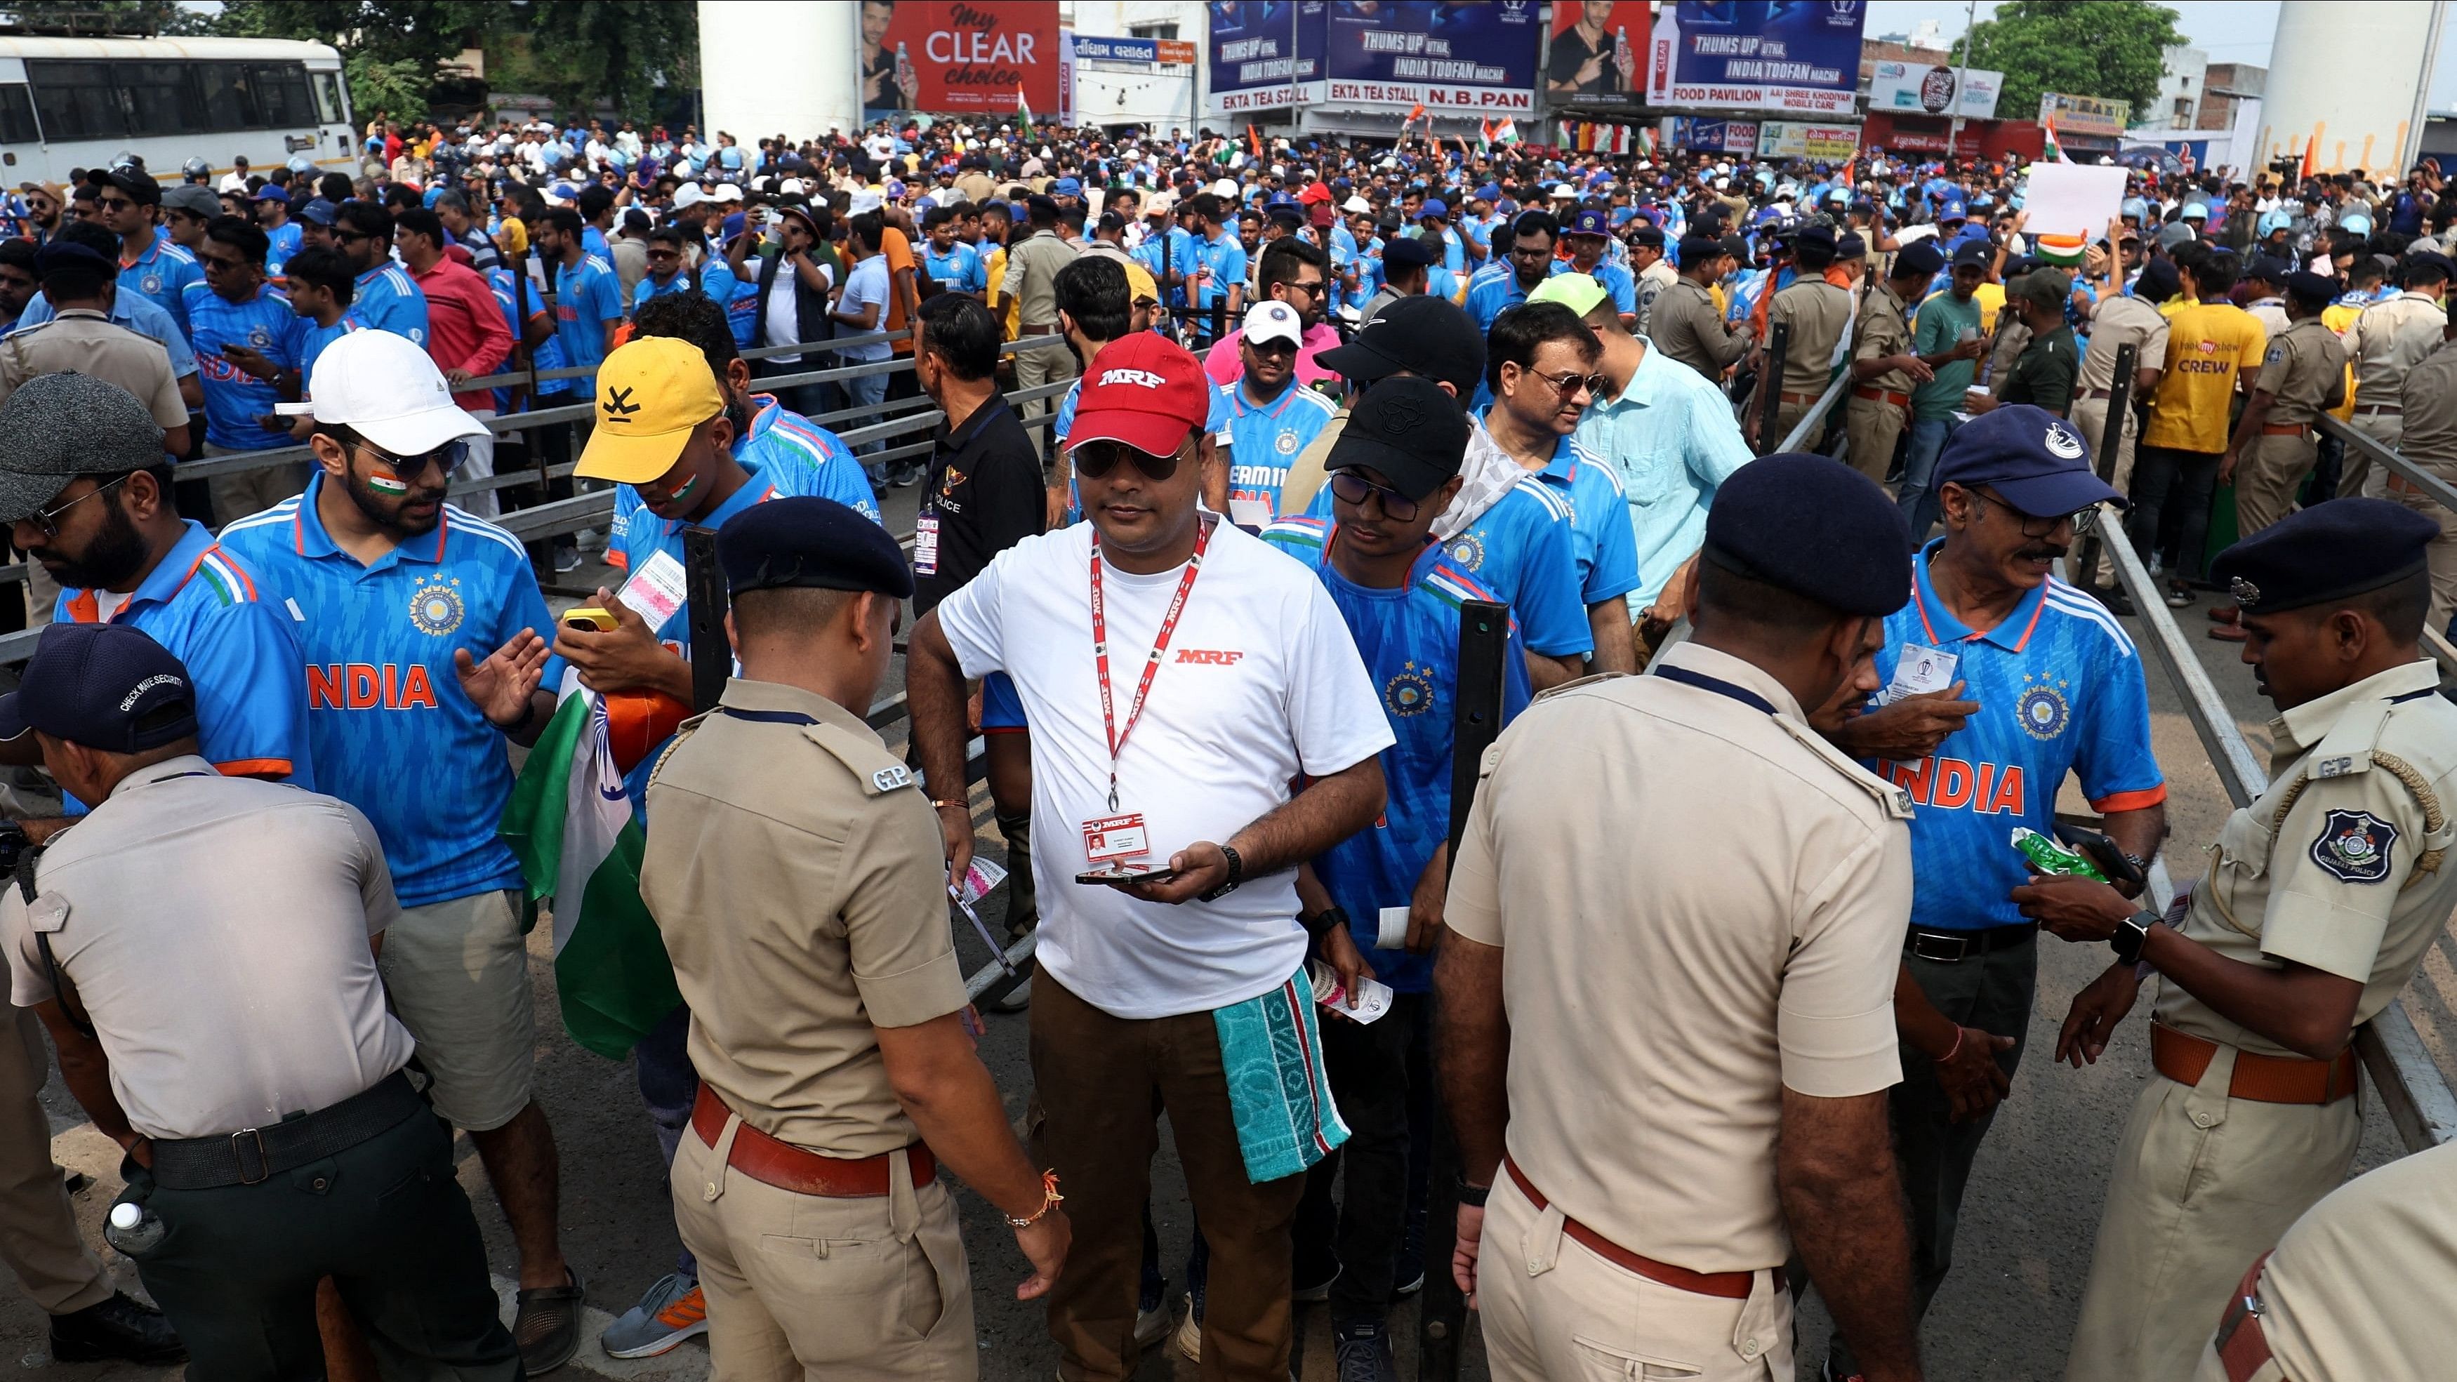
MULTIPOLYGON (((1383 749, 1391 795, 1371 830, 1359 830, 1314 857, 1314 876, 1349 913, 1349 933, 1373 965, 1373 977, 1403 994, 1432 987, 1432 955, 1373 950, 1381 908, 1408 906, 1432 852, 1450 837, 1452 712, 1459 685, 1459 606, 1499 596, 1450 565, 1440 545, 1415 560, 1403 589, 1361 587, 1332 569, 1337 528, 1327 518, 1283 518, 1263 540, 1305 562, 1332 592, 1332 604, 1356 638, 1366 675, 1381 690, 1383 719, 1398 744, 1383 749)), ((1511 621, 1501 658, 1501 719, 1528 705, 1528 663, 1511 621)))

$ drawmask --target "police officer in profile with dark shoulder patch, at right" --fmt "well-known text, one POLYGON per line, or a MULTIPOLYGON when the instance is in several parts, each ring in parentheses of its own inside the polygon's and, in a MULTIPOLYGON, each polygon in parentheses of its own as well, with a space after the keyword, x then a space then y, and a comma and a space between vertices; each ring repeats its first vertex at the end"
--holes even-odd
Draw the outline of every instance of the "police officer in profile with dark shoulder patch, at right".
POLYGON ((2354 1029, 2457 906, 2457 707, 2415 648, 2432 535, 2400 506, 2344 498, 2211 565, 2280 707, 2278 776, 2226 820, 2179 925, 2091 879, 2012 894, 2054 935, 2115 950, 2074 999, 2059 1058, 2096 1060, 2133 1009, 2135 965, 2162 975, 2157 1073, 2115 1154, 2071 1382, 2189 1377, 2243 1269, 2354 1161, 2354 1029))

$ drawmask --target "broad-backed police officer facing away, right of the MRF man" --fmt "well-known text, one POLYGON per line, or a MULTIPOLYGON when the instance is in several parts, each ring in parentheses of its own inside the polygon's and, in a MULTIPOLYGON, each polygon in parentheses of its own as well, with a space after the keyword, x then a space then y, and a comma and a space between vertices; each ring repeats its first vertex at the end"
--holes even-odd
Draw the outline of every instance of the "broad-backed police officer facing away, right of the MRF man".
POLYGON ((1907 552, 1840 461, 1752 461, 1690 641, 1541 697, 1484 759, 1435 1060, 1501 1382, 1789 1382, 1794 1247, 1865 1377, 1919 1377, 1887 1134, 1912 805, 1818 729, 1877 690, 1907 552))

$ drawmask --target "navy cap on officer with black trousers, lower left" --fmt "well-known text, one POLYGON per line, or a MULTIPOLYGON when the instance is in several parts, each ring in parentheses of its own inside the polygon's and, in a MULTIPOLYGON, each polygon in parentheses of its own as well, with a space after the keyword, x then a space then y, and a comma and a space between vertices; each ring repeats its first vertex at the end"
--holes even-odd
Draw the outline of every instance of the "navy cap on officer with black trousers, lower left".
POLYGON ((197 687, 187 663, 135 623, 52 623, 17 690, 0 695, 0 739, 27 729, 143 754, 197 734, 197 687))

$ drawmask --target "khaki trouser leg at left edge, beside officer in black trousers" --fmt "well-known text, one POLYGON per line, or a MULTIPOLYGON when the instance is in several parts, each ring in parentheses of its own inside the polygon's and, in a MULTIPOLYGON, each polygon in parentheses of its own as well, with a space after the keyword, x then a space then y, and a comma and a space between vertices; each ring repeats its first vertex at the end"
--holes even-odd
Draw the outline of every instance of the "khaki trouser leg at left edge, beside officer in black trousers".
POLYGON ((42 1112, 49 1058, 34 1009, 0 1021, 0 1262, 54 1316, 111 1299, 111 1276, 76 1237, 69 1188, 52 1164, 52 1119, 42 1112))

